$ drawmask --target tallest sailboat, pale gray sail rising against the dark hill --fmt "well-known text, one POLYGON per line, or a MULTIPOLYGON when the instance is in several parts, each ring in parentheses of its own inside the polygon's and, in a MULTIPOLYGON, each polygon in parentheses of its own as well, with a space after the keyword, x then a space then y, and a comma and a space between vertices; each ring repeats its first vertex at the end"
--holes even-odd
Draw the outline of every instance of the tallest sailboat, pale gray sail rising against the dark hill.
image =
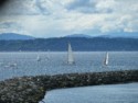
POLYGON ((73 52, 72 52, 72 46, 71 46, 70 43, 68 43, 67 64, 68 64, 68 65, 75 64, 74 57, 73 57, 73 52))

